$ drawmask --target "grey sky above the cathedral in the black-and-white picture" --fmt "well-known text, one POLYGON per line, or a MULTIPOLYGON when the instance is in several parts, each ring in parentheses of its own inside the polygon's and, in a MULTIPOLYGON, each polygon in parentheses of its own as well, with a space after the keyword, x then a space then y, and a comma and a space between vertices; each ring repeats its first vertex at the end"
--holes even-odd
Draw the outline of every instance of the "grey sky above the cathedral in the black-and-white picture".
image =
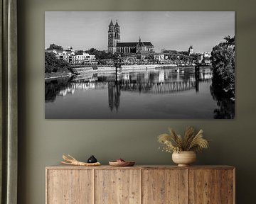
POLYGON ((107 31, 118 20, 121 42, 150 41, 156 52, 211 51, 235 35, 234 11, 46 11, 45 48, 107 50, 107 31))

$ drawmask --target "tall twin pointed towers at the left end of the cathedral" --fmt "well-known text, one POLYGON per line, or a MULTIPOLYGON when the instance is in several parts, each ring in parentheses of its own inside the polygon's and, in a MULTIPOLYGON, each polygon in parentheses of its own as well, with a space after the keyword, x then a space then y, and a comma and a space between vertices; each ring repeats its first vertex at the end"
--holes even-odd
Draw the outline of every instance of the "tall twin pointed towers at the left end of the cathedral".
POLYGON ((107 50, 114 54, 117 52, 117 42, 120 42, 120 27, 116 22, 113 24, 112 20, 110 21, 110 26, 108 30, 108 47, 107 50))

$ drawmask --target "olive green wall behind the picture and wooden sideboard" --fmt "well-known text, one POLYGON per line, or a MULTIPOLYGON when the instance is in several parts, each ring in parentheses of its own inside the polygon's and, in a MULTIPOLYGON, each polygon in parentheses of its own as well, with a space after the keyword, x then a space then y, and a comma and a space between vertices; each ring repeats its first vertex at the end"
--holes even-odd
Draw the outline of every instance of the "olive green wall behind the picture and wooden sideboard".
MULTIPOLYGON (((45 202, 45 166, 63 153, 103 164, 122 157, 137 164, 171 164, 156 136, 170 126, 202 128, 212 139, 198 164, 237 168, 237 203, 255 203, 254 1, 238 0, 19 0, 18 1, 18 203, 45 202), (236 103, 234 120, 45 120, 44 11, 235 11, 236 103)), ((210 23, 210 22, 209 22, 210 23)))

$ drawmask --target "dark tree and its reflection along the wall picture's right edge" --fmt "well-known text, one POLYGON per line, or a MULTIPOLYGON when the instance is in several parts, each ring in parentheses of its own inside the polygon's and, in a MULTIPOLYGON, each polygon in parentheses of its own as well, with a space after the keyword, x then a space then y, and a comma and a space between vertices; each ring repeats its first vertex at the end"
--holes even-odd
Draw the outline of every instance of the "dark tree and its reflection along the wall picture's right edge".
POLYGON ((210 93, 217 101, 214 118, 234 118, 235 116, 235 37, 225 37, 225 42, 213 47, 213 79, 210 93))

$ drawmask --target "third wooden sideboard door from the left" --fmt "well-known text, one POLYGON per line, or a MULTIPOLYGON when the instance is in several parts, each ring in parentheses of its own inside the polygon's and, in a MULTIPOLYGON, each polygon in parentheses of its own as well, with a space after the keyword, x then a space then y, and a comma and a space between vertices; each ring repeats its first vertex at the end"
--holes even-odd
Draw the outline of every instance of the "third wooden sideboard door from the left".
POLYGON ((142 203, 188 203, 186 169, 142 170, 142 203))

